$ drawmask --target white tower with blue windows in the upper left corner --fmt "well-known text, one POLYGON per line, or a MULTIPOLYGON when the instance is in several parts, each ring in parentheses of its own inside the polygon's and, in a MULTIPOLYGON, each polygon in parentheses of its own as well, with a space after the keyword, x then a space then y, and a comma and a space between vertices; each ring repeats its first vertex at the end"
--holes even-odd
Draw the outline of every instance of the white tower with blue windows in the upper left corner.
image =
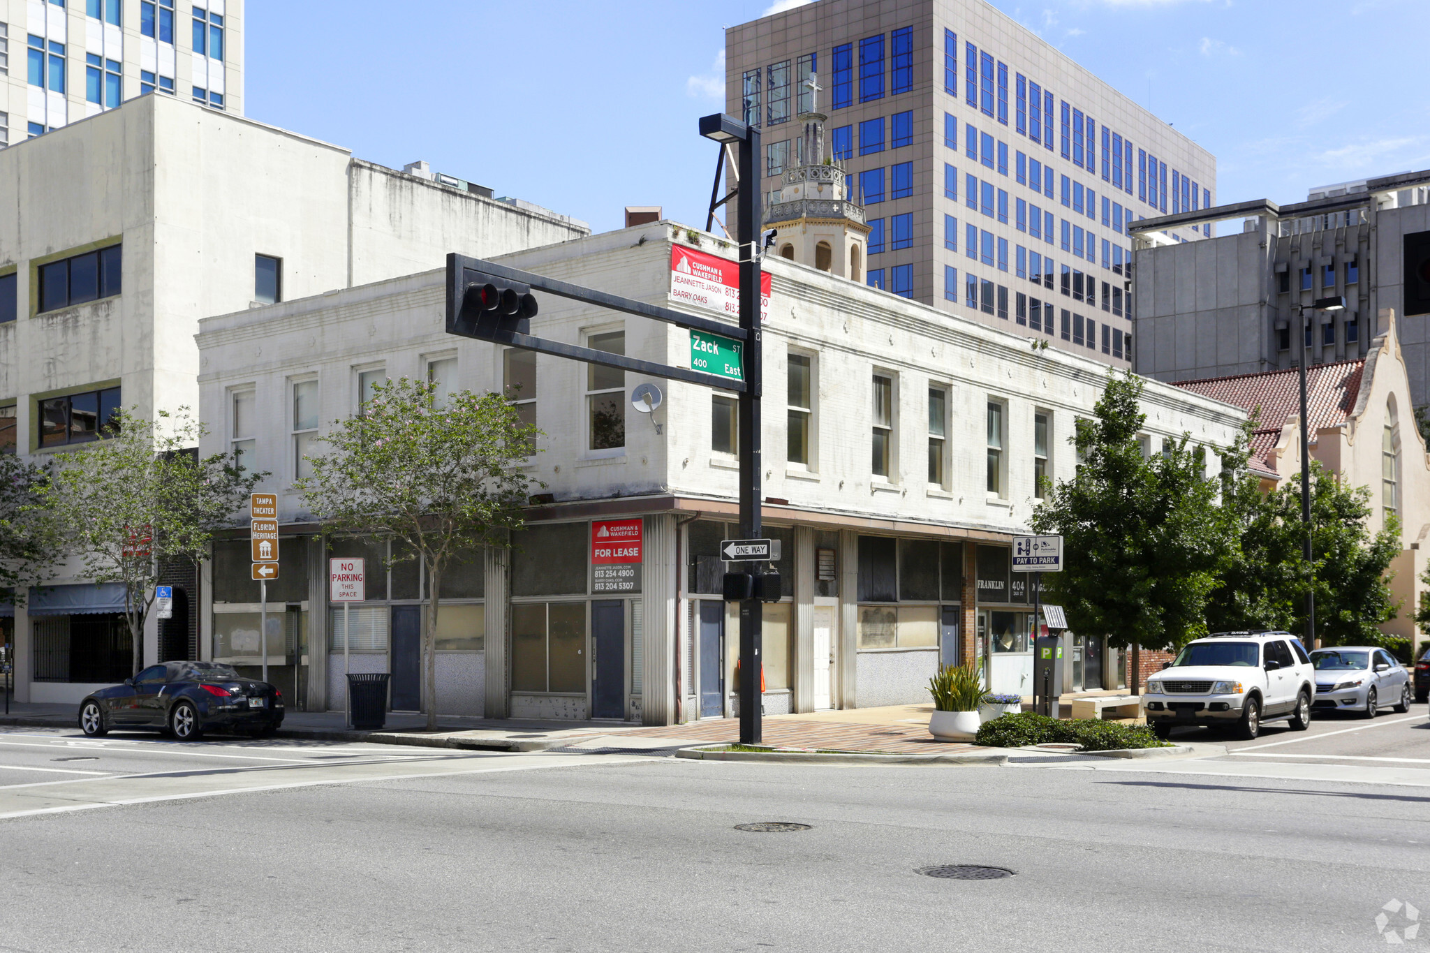
POLYGON ((147 93, 243 114, 243 0, 9 0, 0 17, 0 147, 147 93))

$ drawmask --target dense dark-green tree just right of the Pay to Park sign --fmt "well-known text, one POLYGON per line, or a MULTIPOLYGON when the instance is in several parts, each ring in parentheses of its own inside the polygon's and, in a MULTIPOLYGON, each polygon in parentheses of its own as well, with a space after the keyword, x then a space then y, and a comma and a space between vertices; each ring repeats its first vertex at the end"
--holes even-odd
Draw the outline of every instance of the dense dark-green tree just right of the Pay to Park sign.
POLYGON ((1064 572, 1042 584, 1074 632, 1165 649, 1205 633, 1227 533, 1204 451, 1183 436, 1143 456, 1141 394, 1141 379, 1108 376, 1095 417, 1078 421, 1077 476, 1051 487, 1030 524, 1064 537, 1064 572))

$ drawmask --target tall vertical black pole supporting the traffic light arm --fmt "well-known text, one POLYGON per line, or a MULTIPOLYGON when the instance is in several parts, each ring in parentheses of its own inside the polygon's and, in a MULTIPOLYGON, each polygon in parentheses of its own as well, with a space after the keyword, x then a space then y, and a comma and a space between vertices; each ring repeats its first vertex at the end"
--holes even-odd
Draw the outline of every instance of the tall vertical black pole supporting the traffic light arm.
MULTIPOLYGON (((739 326, 745 340, 745 390, 739 394, 739 532, 745 539, 761 536, 759 397, 764 380, 759 331, 759 130, 749 127, 739 143, 739 326)), ((746 569, 751 564, 746 563, 746 569)), ((739 743, 759 744, 764 672, 761 629, 764 607, 758 599, 739 604, 739 743)))

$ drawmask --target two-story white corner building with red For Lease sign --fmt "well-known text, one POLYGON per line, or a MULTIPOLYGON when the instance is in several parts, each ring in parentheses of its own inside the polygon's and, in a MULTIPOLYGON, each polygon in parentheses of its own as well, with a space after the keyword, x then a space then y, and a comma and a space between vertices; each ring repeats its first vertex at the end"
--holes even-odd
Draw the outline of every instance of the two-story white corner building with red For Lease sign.
MULTIPOLYGON (((699 310, 691 274, 716 276, 732 257, 728 243, 658 221, 499 260, 699 310)), ((1010 572, 1010 540, 1027 532, 1038 477, 1071 476, 1074 421, 1093 413, 1107 367, 805 264, 771 256, 765 267, 764 520, 782 540, 785 587, 765 606, 766 712, 917 702, 941 659, 977 660, 994 690, 1027 693, 1032 594, 1010 572)), ((724 314, 719 279, 702 280, 724 314)), ((385 540, 325 539, 290 489, 373 380, 423 377, 506 389, 543 431, 529 470, 546 484, 513 549, 473 553, 443 577, 439 712, 729 716, 738 636, 718 544, 736 534, 732 396, 449 336, 443 281, 423 271, 200 321, 202 450, 242 450, 280 500, 282 577, 269 593, 290 652, 269 649, 270 664, 290 666, 280 677, 310 709, 342 707, 347 637, 353 672, 393 673, 395 709, 430 703, 416 674, 429 594, 418 564, 388 572, 385 540), (664 391, 654 413, 631 403, 642 383, 664 391), (608 564, 612 537, 639 546, 639 560, 608 564), (369 559, 346 636, 326 602, 329 554, 369 559)), ((689 366, 686 330, 539 297, 535 334, 689 366)), ((1246 419, 1157 381, 1144 406, 1150 436, 1207 446, 1230 444, 1246 419)), ((237 533, 216 546, 204 657, 259 660, 247 563, 237 533)), ((1068 687, 1123 683, 1120 653, 1075 640, 1068 687)))

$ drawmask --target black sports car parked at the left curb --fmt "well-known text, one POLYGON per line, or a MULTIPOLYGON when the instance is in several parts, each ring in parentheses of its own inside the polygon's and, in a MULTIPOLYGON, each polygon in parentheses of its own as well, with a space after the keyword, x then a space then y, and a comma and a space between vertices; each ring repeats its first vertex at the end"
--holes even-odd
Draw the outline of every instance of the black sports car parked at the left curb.
POLYGON ((280 724, 282 692, 213 662, 149 666, 80 702, 80 729, 92 737, 110 729, 157 729, 190 742, 206 729, 272 734, 280 724))

